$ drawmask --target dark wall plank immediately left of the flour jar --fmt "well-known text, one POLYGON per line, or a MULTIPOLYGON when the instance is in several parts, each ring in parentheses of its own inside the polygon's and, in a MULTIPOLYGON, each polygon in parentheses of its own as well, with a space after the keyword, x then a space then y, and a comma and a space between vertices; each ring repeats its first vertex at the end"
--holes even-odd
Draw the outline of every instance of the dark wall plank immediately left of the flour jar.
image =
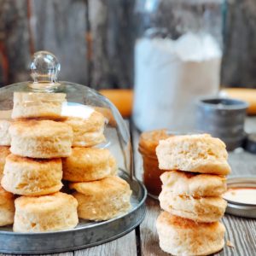
POLYGON ((134 0, 89 0, 92 87, 132 87, 133 5, 134 0))

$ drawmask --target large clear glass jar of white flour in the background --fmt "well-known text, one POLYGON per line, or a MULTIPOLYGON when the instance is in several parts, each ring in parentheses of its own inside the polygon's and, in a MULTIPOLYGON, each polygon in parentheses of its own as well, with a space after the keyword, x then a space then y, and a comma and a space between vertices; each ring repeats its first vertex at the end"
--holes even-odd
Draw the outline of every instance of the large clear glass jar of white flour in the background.
POLYGON ((195 130, 196 102, 218 94, 221 10, 216 0, 137 0, 133 120, 139 130, 195 130))

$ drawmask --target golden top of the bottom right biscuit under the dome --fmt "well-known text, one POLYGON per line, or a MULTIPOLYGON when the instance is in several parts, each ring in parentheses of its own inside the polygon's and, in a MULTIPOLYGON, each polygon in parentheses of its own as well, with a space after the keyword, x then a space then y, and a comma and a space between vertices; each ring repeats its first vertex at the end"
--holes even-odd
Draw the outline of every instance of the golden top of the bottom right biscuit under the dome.
POLYGON ((130 190, 130 186, 120 177, 105 177, 86 183, 71 183, 70 189, 76 189, 84 195, 107 195, 108 193, 122 193, 130 190))

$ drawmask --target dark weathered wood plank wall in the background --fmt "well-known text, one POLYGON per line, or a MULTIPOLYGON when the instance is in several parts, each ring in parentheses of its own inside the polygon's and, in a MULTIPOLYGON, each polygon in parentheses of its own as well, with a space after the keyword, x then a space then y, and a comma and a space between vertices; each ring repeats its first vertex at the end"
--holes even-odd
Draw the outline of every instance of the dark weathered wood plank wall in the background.
MULTIPOLYGON (((256 87, 256 2, 225 2, 222 84, 256 87)), ((61 80, 96 89, 132 88, 134 4, 0 0, 0 86, 29 79, 32 53, 47 49, 61 62, 61 80)))

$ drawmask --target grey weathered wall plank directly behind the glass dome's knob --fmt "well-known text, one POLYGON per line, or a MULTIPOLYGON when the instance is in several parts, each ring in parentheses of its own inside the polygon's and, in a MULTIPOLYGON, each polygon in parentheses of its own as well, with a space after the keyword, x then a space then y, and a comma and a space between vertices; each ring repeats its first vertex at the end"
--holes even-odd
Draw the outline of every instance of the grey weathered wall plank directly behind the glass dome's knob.
POLYGON ((49 50, 57 56, 60 80, 87 84, 85 0, 31 1, 35 50, 49 50))

